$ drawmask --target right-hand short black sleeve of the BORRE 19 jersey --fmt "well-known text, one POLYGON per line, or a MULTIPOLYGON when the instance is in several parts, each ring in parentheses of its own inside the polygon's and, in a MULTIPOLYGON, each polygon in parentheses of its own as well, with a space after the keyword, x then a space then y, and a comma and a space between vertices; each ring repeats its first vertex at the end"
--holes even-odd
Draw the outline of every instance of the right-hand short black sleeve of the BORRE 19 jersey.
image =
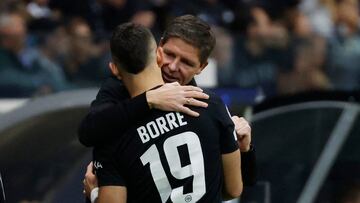
POLYGON ((215 94, 210 93, 211 105, 213 105, 214 110, 214 119, 219 125, 220 128, 220 147, 221 153, 227 154, 236 151, 239 149, 235 126, 231 120, 230 113, 223 103, 220 97, 215 94))

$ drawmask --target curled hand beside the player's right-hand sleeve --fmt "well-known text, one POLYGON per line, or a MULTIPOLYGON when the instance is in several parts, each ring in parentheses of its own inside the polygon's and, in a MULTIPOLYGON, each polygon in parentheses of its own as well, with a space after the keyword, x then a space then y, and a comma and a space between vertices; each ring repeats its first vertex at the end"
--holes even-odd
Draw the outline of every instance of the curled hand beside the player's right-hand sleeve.
POLYGON ((251 127, 243 117, 231 117, 235 124, 235 132, 241 152, 248 152, 251 144, 251 127))

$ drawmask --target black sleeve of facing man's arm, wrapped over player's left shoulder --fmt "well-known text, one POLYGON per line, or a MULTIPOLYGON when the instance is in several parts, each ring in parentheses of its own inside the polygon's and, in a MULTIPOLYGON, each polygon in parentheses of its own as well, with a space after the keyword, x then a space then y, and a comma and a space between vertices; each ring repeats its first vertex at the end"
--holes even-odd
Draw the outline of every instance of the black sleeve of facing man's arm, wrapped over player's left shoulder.
POLYGON ((124 132, 130 124, 150 114, 146 94, 132 99, 120 81, 108 79, 103 83, 96 100, 78 128, 80 142, 87 146, 100 146, 112 140, 112 132, 124 132))

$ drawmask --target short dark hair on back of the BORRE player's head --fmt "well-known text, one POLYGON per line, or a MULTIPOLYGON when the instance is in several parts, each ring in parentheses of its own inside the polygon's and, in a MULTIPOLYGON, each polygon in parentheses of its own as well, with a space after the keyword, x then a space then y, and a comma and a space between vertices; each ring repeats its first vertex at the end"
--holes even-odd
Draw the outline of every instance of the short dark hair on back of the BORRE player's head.
POLYGON ((137 74, 147 65, 153 35, 149 29, 134 23, 117 26, 110 39, 111 55, 126 72, 137 74))

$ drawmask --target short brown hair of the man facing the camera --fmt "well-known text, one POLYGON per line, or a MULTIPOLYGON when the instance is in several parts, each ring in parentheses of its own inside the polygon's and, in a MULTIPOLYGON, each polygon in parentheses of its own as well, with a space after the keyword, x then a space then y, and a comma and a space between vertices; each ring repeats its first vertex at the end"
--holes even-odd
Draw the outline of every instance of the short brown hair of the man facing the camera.
POLYGON ((198 48, 201 64, 207 61, 216 43, 210 26, 193 15, 183 15, 171 21, 163 34, 161 43, 165 44, 173 37, 180 38, 198 48))

